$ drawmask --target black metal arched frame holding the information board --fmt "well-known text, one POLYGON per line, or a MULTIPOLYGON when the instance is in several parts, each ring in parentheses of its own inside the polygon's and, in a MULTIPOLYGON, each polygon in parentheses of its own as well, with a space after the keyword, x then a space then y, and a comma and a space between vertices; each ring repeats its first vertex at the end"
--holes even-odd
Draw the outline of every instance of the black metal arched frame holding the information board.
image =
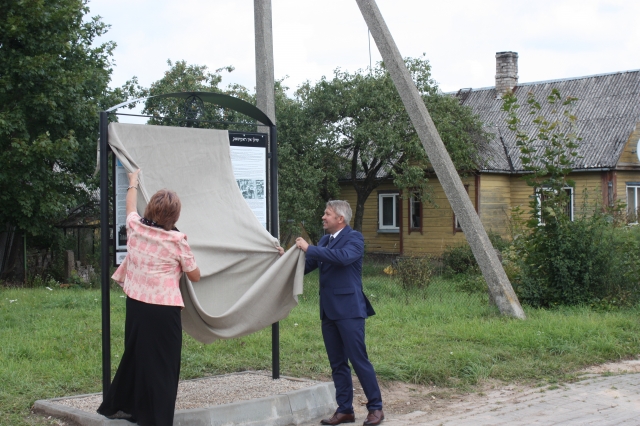
MULTIPOLYGON (((196 96, 205 102, 228 108, 253 118, 257 122, 269 127, 269 189, 270 189, 270 220, 267 222, 269 232, 278 238, 278 143, 276 125, 259 108, 250 103, 221 93, 210 92, 178 92, 163 95, 149 96, 126 101, 115 105, 106 111, 100 112, 100 281, 102 294, 102 392, 106 396, 111 386, 111 314, 110 314, 110 262, 109 262, 109 114, 117 114, 115 111, 132 103, 145 101, 151 98, 179 98, 187 99, 196 96)), ((189 120, 198 122, 199 120, 189 120)), ((257 125, 257 124, 256 124, 257 125)), ((115 237, 115 236, 114 236, 115 237)), ((272 350, 272 375, 274 379, 280 377, 280 327, 279 323, 271 326, 271 350, 272 350)))

